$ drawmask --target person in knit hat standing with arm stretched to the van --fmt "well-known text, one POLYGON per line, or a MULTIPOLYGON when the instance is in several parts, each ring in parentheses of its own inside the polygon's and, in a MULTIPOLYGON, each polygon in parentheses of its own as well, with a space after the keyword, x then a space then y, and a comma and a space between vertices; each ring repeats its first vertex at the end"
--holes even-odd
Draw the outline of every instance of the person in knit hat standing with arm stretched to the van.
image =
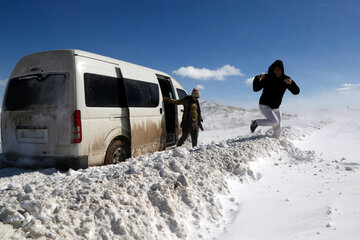
POLYGON ((181 121, 182 136, 177 143, 178 147, 184 144, 189 134, 191 136, 192 146, 197 146, 199 127, 201 127, 201 122, 203 121, 198 100, 199 98, 200 91, 195 88, 193 89, 191 96, 185 96, 183 99, 180 100, 170 99, 167 97, 164 98, 164 101, 166 102, 184 106, 184 114, 181 121))

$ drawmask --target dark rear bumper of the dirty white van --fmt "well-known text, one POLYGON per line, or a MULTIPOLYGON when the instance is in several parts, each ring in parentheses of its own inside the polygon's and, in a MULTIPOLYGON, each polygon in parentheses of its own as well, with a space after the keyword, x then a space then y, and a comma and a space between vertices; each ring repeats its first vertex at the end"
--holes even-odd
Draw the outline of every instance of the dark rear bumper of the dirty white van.
MULTIPOLYGON (((18 156, 0 154, 5 167, 79 169, 89 166, 88 156, 18 156)), ((3 166, 3 167, 4 167, 3 166)))

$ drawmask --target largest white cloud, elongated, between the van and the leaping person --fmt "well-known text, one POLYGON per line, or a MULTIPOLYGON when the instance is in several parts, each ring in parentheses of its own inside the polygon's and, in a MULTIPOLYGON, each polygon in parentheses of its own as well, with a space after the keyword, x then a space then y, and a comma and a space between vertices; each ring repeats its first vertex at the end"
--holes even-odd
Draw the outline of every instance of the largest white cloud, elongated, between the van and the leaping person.
POLYGON ((181 67, 178 70, 173 71, 173 73, 182 77, 189 77, 198 80, 214 79, 218 81, 224 81, 226 77, 229 76, 244 76, 240 69, 229 64, 215 70, 195 68, 193 66, 181 67))

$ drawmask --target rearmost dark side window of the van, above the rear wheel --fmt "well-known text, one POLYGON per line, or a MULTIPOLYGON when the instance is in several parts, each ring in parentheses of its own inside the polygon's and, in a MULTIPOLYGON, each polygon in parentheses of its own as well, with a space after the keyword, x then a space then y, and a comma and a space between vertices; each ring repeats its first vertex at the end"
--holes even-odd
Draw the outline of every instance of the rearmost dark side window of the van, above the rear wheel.
POLYGON ((85 73, 84 81, 87 107, 126 107, 121 79, 85 73))

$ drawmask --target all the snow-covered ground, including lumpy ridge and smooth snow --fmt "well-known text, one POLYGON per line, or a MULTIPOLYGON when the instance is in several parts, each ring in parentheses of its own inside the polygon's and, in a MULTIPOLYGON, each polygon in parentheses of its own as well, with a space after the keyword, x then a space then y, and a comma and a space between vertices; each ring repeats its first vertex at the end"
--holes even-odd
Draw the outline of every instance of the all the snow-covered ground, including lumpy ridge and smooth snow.
MULTIPOLYGON (((200 145, 85 170, 0 169, 0 239, 358 239, 360 111, 202 103, 200 145)), ((1 165, 1 163, 0 163, 1 165)))

